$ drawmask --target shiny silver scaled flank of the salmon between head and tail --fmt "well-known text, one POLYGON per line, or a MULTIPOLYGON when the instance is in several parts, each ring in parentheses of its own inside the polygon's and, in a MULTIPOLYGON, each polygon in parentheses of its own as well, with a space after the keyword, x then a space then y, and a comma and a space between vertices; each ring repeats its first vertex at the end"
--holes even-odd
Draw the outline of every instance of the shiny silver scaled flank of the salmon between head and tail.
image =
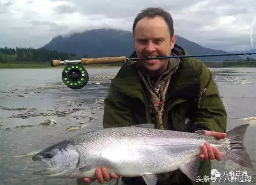
POLYGON ((184 135, 144 127, 118 127, 81 134, 70 141, 78 147, 84 159, 88 161, 90 156, 90 162, 95 165, 93 174, 98 166, 106 166, 110 173, 133 177, 138 173, 177 169, 180 163, 187 163, 200 154, 206 139, 194 133, 184 135))

